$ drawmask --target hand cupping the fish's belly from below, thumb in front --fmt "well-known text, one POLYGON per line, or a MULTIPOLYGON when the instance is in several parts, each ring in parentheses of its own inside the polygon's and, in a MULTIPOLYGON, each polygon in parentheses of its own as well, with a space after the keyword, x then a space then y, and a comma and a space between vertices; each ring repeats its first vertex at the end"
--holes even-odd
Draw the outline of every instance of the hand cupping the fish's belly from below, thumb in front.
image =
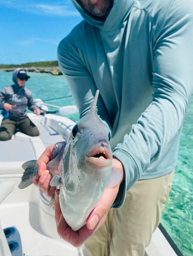
POLYGON ((76 232, 72 231, 65 221, 59 204, 59 190, 55 191, 55 220, 58 234, 75 247, 81 246, 105 222, 109 209, 118 194, 119 186, 124 179, 124 167, 117 158, 113 158, 113 167, 118 167, 122 170, 123 178, 116 186, 105 188, 99 202, 88 216, 86 224, 76 232))

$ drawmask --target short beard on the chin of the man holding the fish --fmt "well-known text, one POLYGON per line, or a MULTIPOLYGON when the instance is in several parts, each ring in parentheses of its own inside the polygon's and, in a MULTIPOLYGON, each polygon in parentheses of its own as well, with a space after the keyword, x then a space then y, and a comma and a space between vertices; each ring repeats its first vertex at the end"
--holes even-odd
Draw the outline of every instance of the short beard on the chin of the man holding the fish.
POLYGON ((103 0, 103 4, 101 6, 92 4, 89 0, 80 0, 80 2, 89 13, 95 16, 108 15, 113 6, 113 0, 103 0))

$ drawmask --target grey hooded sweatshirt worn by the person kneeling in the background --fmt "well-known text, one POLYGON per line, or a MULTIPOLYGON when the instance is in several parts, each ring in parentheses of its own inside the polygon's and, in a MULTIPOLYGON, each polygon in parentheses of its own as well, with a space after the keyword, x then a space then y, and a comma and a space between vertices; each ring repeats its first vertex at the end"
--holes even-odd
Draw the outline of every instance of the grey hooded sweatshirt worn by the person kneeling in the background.
POLYGON ((17 74, 20 70, 23 69, 18 68, 13 72, 13 82, 15 84, 4 87, 0 92, 0 109, 3 109, 4 103, 17 105, 16 108, 8 112, 8 118, 14 121, 22 120, 27 116, 26 107, 31 111, 38 109, 33 102, 31 91, 25 88, 25 86, 19 87, 17 84, 17 74))

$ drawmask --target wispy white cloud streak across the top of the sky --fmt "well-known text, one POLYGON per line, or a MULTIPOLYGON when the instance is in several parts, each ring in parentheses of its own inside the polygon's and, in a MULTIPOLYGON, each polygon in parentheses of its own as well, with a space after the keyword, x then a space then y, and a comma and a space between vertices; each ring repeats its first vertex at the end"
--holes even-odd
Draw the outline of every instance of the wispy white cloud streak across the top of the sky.
MULTIPOLYGON (((43 1, 43 0, 42 0, 43 1)), ((75 10, 72 2, 58 1, 55 4, 53 1, 51 4, 38 3, 36 0, 0 0, 0 5, 8 7, 10 9, 17 9, 21 12, 33 13, 36 15, 46 16, 80 16, 79 12, 75 10)))

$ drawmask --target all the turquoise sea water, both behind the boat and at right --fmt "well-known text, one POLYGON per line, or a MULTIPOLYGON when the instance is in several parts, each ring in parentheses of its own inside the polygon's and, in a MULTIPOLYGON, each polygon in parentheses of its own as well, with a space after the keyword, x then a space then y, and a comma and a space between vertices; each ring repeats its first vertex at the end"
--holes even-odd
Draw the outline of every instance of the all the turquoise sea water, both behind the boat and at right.
MULTIPOLYGON (((63 76, 45 73, 28 73, 31 78, 26 87, 33 98, 42 100, 71 95, 63 76)), ((13 84, 12 72, 0 71, 0 89, 13 84)), ((74 105, 72 97, 46 101, 57 106, 74 105)), ((53 110, 50 108, 50 110, 53 110)), ((79 115, 69 115, 78 121, 79 115)), ((173 187, 161 222, 184 256, 193 256, 193 96, 184 120, 173 187)))

